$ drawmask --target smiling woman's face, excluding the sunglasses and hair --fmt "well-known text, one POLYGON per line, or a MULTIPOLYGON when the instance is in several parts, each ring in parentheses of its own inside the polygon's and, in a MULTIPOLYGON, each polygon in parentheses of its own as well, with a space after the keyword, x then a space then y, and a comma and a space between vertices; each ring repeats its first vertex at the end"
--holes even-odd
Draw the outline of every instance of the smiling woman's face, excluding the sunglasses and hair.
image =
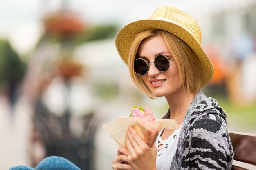
MULTIPOLYGON (((162 35, 142 42, 138 49, 138 55, 146 62, 154 62, 157 55, 164 55, 169 60, 173 59, 162 35)), ((141 78, 156 97, 173 97, 180 92, 179 71, 175 60, 170 62, 170 67, 166 72, 161 72, 155 67, 155 64, 150 64, 148 72, 141 75, 141 78)))

